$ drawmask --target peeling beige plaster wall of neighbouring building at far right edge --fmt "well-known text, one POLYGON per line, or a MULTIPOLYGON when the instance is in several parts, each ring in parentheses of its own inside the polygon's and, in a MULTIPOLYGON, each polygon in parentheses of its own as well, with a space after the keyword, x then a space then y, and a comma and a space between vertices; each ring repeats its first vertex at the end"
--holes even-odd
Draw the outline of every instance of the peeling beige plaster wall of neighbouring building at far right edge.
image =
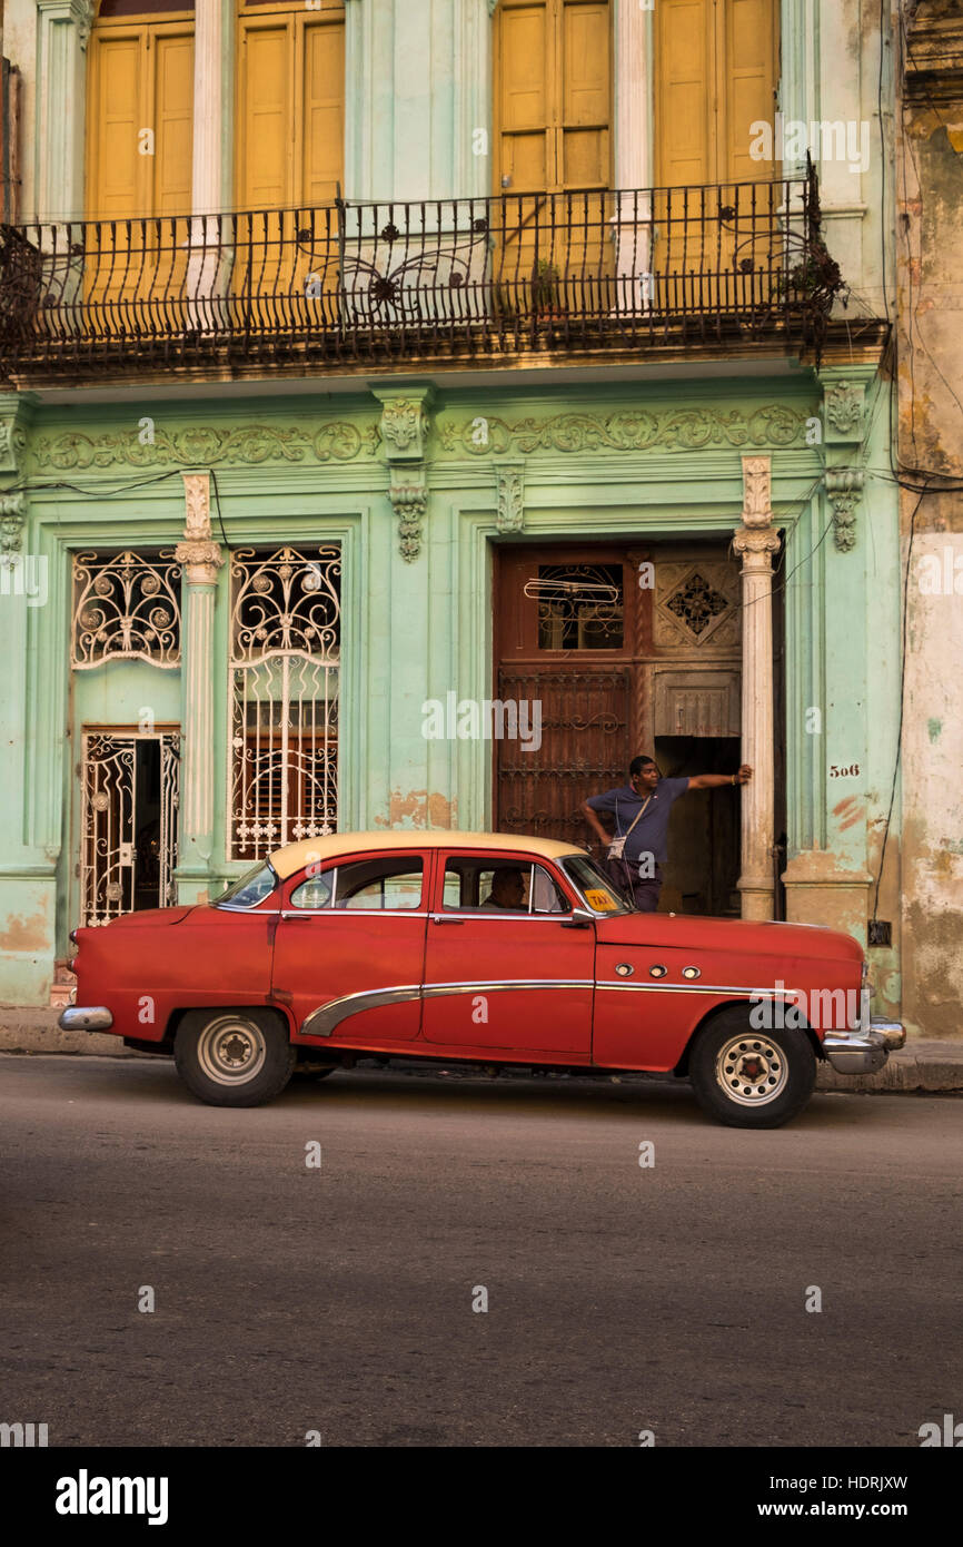
MULTIPOLYGON (((903 1007, 912 1032, 963 1036, 963 8, 921 0, 900 138, 898 450, 903 490, 903 1007), (918 476, 918 475, 917 475, 918 476), (923 478, 918 476, 920 487, 923 478)), ((889 860, 887 860, 889 868, 889 860)))

